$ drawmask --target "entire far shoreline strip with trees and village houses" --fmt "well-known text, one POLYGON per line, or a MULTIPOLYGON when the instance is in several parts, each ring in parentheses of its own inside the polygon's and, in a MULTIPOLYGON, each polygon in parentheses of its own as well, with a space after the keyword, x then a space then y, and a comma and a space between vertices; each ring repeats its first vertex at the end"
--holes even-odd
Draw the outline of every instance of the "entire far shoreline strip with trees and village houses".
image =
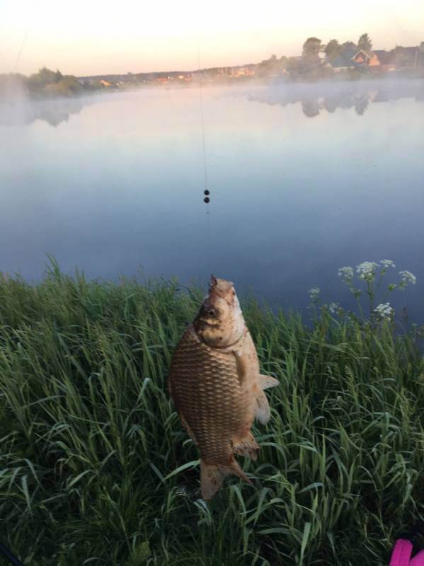
POLYGON ((372 40, 363 33, 357 43, 324 44, 308 37, 302 54, 277 57, 259 63, 234 67, 213 67, 195 71, 159 71, 155 73, 104 74, 96 76, 62 75, 43 67, 30 76, 0 74, 0 100, 19 94, 30 98, 71 97, 98 91, 123 91, 148 86, 188 87, 193 84, 231 84, 243 81, 311 82, 323 79, 355 80, 384 77, 424 79, 424 41, 410 47, 396 46, 390 51, 374 50, 372 40))

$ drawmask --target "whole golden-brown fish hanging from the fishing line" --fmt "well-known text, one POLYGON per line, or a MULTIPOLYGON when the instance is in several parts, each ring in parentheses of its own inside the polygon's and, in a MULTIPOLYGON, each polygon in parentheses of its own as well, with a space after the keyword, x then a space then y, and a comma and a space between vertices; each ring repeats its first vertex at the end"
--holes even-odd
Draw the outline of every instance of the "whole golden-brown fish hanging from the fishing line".
POLYGON ((279 381, 260 374, 258 354, 234 283, 212 275, 209 294, 178 342, 168 390, 181 423, 200 451, 202 498, 210 500, 227 475, 247 483, 235 454, 256 460, 253 420, 270 420, 264 390, 279 381))

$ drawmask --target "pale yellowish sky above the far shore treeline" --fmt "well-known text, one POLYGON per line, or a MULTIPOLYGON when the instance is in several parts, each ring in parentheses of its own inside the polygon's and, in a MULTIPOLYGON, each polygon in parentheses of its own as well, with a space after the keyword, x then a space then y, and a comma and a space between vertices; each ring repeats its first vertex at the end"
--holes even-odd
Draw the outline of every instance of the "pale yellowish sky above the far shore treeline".
POLYGON ((424 41, 423 0, 0 0, 0 73, 193 70, 297 55, 307 37, 424 41))

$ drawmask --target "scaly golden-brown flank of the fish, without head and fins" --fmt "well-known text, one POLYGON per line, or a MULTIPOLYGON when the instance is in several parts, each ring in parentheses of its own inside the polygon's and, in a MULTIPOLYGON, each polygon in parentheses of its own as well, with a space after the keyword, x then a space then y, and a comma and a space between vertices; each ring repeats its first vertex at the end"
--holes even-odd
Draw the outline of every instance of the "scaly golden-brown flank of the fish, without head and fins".
POLYGON ((207 463, 231 461, 232 441, 246 434, 248 404, 234 356, 203 344, 189 327, 176 349, 170 376, 174 403, 202 458, 207 463))

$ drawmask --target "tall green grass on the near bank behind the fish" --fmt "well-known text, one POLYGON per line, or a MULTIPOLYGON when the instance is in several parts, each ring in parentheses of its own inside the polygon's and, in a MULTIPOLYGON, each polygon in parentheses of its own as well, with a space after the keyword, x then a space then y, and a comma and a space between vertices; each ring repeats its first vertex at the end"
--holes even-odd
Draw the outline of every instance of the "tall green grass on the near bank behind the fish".
POLYGON ((25 566, 386 566, 424 515, 420 331, 245 301, 280 386, 243 461, 254 487, 229 478, 205 504, 166 388, 201 300, 54 263, 0 278, 0 541, 25 566))

